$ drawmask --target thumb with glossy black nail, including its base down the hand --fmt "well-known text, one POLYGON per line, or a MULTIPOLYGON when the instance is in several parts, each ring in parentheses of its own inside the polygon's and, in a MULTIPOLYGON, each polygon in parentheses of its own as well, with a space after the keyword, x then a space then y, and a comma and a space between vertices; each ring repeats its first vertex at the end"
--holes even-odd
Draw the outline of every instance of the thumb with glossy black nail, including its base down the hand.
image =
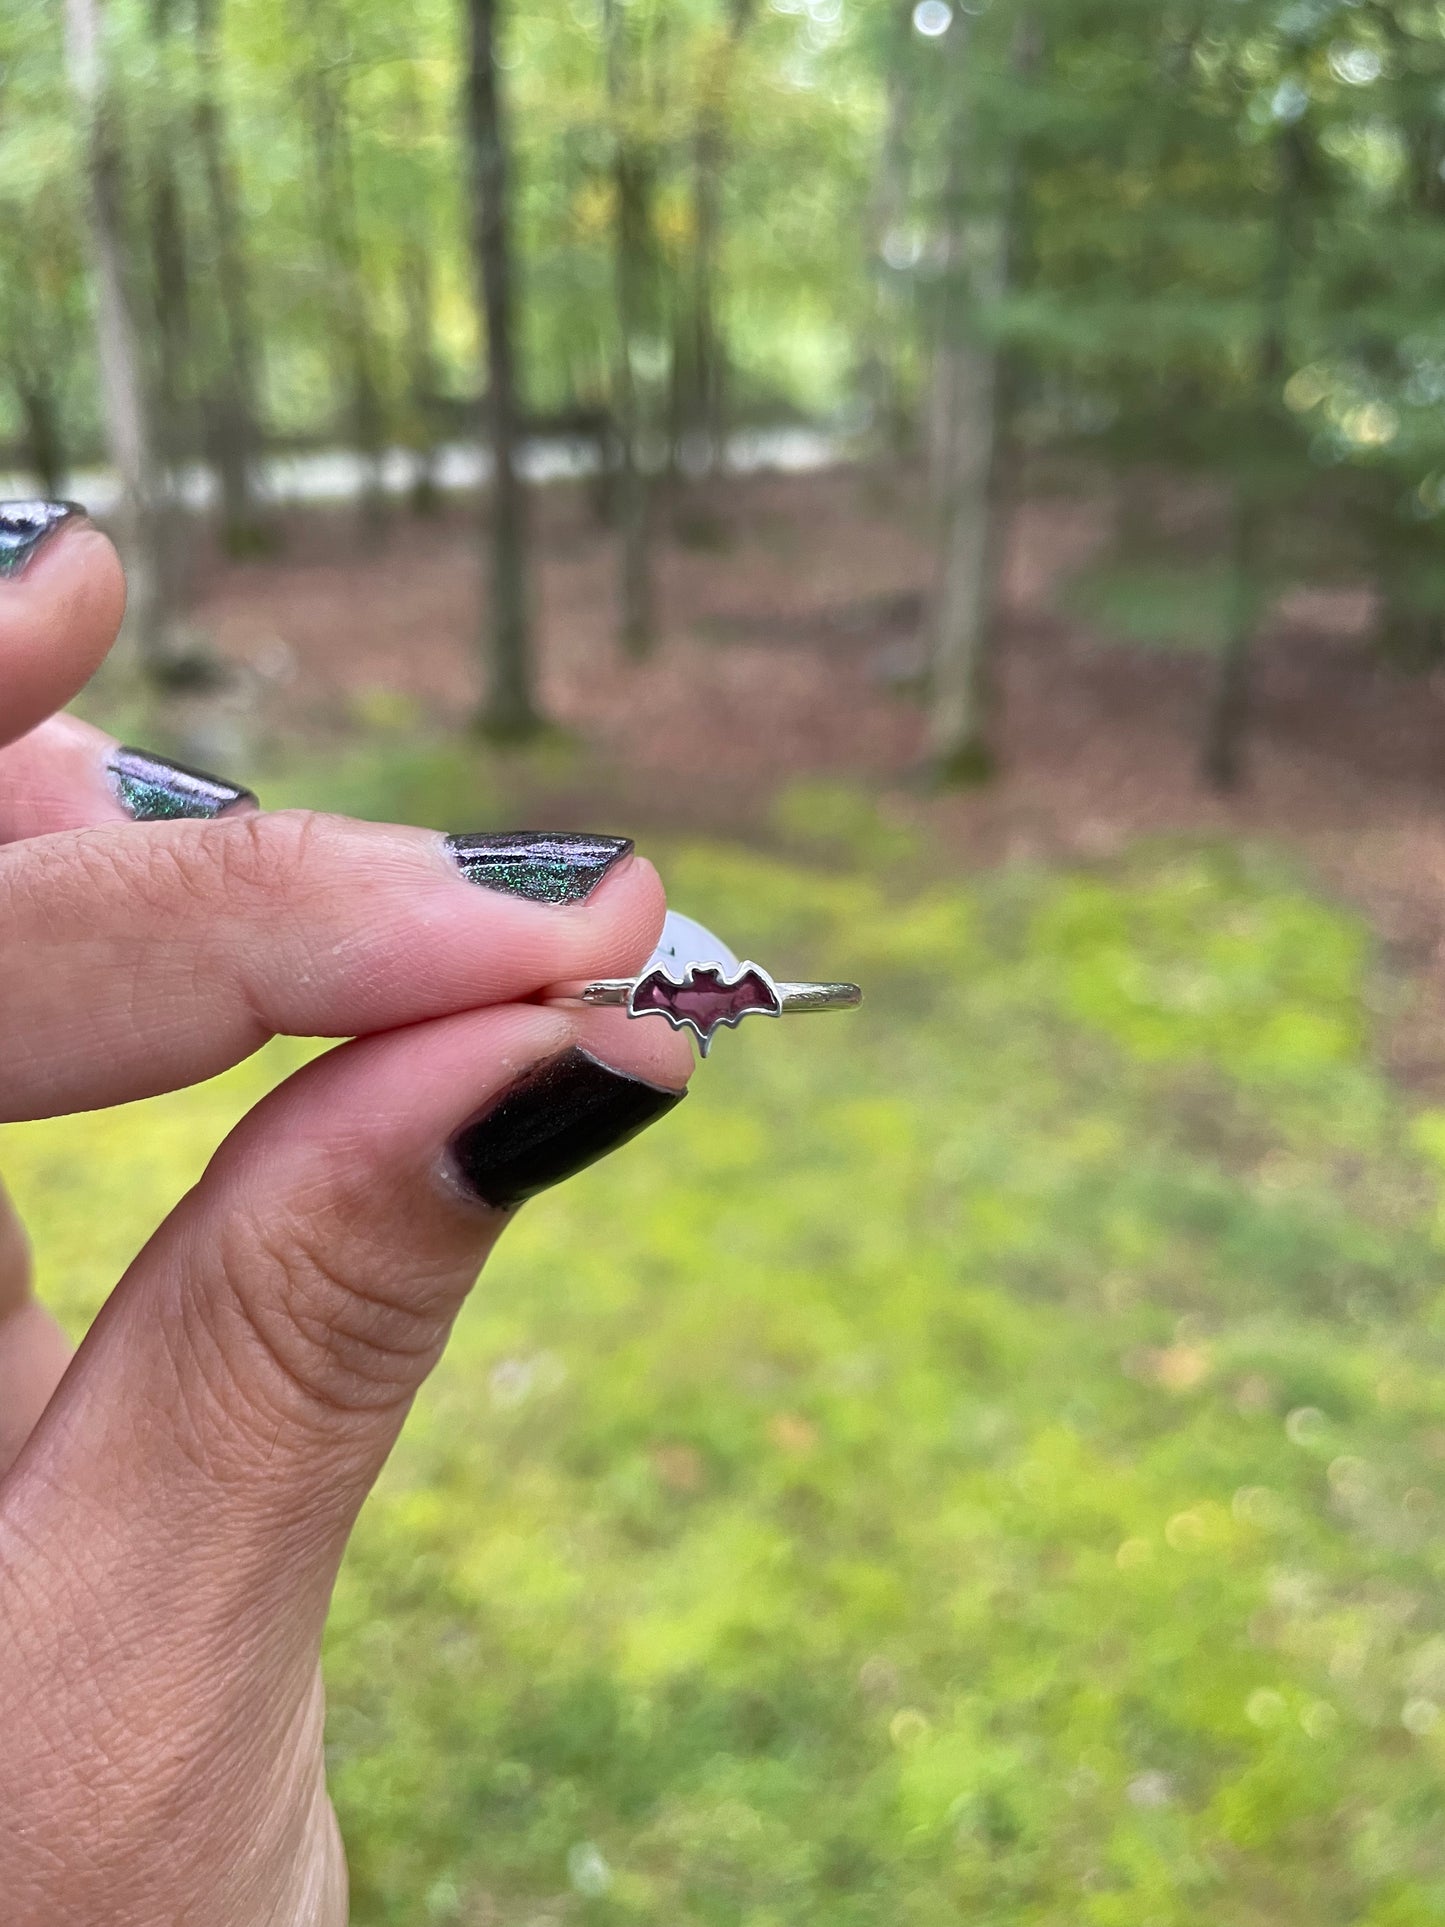
MULTIPOLYGON (((12 1767, 0 1740, 0 1809, 12 1860, 87 1869, 77 1919, 114 1917, 137 1808, 185 1811, 212 1867, 254 1856, 347 1532, 499 1206, 661 1118, 688 1069, 682 1039, 618 1012, 512 1006, 347 1044, 237 1129, 141 1254, 0 1486, 23 1680, 0 1730, 27 1742, 12 1767), (37 1773, 37 1750, 60 1765, 37 1773)), ((125 1919, 193 1917, 187 1846, 125 1919)), ((262 1900, 247 1919, 274 1917, 262 1900)))

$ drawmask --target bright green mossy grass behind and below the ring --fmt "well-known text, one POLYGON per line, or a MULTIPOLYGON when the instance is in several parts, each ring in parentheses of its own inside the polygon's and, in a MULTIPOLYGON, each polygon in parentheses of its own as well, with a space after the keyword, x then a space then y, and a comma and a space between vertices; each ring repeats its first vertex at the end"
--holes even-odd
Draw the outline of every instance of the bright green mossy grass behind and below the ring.
MULTIPOLYGON (((1445 1118, 1360 927, 665 867, 869 1004, 505 1239, 337 1592, 358 1927, 1445 1919, 1445 1118)), ((299 1048, 4 1133, 77 1330, 299 1048)))

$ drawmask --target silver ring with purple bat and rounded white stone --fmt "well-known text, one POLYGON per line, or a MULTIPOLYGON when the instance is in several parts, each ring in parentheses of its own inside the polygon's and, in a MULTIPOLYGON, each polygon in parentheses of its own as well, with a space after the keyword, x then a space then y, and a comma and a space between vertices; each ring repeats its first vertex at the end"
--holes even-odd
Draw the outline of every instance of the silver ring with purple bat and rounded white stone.
POLYGON ((761 964, 740 964, 724 942, 669 910, 663 938, 640 977, 605 977, 553 992, 555 1000, 622 1008, 630 1017, 667 1017, 692 1031, 701 1054, 721 1029, 744 1017, 782 1017, 800 1010, 854 1010, 855 983, 778 983, 761 964))

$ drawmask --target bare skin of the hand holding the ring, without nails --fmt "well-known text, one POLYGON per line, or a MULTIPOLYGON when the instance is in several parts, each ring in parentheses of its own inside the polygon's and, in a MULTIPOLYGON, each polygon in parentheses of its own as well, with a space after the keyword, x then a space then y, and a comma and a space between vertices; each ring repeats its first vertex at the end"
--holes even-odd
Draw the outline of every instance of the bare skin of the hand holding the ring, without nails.
POLYGON ((0 1116, 351 1041, 241 1122, 73 1359, 0 1195, 0 1892, 10 1927, 341 1927, 328 1601, 507 1222, 445 1145, 570 1044, 676 1089, 692 1052, 536 1002, 647 958, 642 859, 551 908, 414 829, 129 823, 108 740, 52 715, 121 603, 85 524, 0 584, 0 1116))

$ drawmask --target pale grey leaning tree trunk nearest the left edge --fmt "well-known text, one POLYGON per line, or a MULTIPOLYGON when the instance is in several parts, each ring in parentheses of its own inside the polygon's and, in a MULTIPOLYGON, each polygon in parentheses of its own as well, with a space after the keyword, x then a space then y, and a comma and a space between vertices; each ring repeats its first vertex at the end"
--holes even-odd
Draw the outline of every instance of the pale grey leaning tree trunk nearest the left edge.
POLYGON ((168 572, 171 505, 125 285, 119 131, 104 69, 102 10, 104 0, 66 0, 66 54, 85 139, 100 401, 121 484, 119 538, 129 580, 125 638, 141 671, 164 680, 177 653, 168 572))

